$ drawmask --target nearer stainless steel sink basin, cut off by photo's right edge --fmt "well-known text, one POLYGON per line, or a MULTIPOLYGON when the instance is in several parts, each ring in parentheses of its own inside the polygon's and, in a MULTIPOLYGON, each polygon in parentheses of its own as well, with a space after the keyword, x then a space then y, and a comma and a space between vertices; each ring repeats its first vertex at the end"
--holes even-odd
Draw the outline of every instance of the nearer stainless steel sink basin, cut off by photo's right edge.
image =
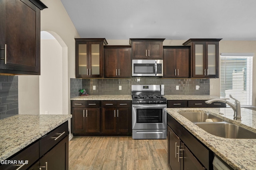
POLYGON ((206 132, 230 139, 256 139, 256 133, 228 122, 195 123, 206 132))

